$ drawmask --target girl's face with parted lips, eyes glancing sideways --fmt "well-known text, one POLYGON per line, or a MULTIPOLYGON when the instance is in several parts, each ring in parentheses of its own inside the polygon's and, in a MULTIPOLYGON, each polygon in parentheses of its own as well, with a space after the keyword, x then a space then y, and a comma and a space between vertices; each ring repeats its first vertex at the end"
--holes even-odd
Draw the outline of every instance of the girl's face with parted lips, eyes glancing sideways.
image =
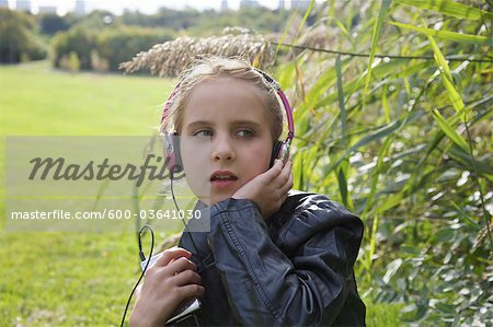
POLYGON ((180 131, 192 141, 181 143, 181 154, 187 182, 204 202, 230 198, 268 168, 271 118, 261 92, 232 78, 206 80, 192 91, 180 131), (210 144, 207 154, 200 142, 210 144), (205 188, 210 189, 209 199, 205 188))

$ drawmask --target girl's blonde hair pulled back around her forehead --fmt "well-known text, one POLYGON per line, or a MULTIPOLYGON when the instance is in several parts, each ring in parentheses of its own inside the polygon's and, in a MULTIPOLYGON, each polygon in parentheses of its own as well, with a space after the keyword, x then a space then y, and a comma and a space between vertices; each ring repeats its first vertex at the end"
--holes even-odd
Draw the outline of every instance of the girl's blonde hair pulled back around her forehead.
POLYGON ((232 78, 246 81, 255 85, 264 95, 265 109, 271 116, 271 132, 273 142, 279 139, 283 132, 283 112, 276 91, 265 81, 264 77, 253 67, 241 59, 227 59, 210 57, 197 61, 191 69, 182 74, 180 86, 170 106, 168 116, 164 117, 161 130, 180 133, 183 115, 194 87, 208 79, 232 78))

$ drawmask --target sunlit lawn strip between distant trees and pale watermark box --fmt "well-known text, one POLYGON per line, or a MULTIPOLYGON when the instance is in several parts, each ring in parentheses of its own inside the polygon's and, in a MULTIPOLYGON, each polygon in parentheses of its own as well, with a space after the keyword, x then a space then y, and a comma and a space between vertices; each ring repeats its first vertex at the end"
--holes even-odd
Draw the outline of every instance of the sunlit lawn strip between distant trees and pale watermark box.
POLYGON ((147 136, 171 86, 158 78, 0 67, 4 136, 147 136))

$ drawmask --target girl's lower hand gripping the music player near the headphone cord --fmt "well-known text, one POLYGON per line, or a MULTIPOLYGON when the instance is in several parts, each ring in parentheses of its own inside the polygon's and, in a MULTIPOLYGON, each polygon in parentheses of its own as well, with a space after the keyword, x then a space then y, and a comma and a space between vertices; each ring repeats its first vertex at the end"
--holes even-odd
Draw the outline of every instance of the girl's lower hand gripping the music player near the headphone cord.
POLYGON ((146 271, 146 280, 137 291, 130 326, 163 326, 185 301, 204 294, 197 267, 188 260, 186 249, 174 247, 146 271))

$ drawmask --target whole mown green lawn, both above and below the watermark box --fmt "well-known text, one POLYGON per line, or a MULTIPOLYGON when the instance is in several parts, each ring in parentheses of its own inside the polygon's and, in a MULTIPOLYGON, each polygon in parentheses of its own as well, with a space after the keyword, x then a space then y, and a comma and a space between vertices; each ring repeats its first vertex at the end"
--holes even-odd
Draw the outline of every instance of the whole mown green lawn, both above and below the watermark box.
MULTIPOLYGON (((171 86, 157 78, 57 72, 47 62, 0 67, 1 136, 148 136, 171 86)), ((0 147, 0 325, 119 325, 138 277, 135 236, 7 232, 4 140, 0 147)), ((398 306, 365 301, 369 326, 400 325, 398 306)))

